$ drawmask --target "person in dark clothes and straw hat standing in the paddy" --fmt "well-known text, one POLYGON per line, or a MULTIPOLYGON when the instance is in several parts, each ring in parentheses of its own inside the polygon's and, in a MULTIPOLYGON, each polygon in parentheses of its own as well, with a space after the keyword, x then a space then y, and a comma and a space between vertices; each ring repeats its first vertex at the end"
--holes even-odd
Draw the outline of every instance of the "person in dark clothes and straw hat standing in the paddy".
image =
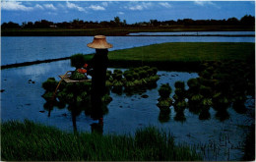
POLYGON ((112 44, 106 42, 106 38, 103 35, 96 35, 92 43, 87 44, 90 48, 96 49, 96 54, 91 60, 89 65, 92 68, 92 92, 91 101, 93 105, 92 118, 102 122, 102 108, 101 108, 101 97, 105 94, 105 80, 106 80, 106 69, 108 64, 108 48, 112 47, 112 44))

